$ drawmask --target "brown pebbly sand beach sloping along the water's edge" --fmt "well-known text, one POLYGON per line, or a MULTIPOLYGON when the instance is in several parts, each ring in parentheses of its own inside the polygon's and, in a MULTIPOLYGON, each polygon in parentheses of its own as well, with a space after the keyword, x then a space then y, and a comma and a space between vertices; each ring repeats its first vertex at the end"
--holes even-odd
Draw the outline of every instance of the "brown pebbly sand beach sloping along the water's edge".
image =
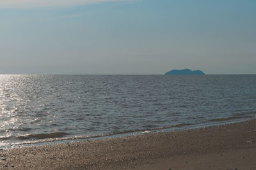
POLYGON ((0 169, 256 169, 256 120, 4 149, 0 169))

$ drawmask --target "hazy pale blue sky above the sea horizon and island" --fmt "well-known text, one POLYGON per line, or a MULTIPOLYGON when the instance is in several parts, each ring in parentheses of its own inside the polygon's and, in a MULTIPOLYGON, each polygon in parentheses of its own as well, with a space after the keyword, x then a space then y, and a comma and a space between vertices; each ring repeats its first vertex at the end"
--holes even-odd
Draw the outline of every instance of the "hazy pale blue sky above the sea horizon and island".
POLYGON ((1 0, 0 74, 256 74, 255 0, 1 0))

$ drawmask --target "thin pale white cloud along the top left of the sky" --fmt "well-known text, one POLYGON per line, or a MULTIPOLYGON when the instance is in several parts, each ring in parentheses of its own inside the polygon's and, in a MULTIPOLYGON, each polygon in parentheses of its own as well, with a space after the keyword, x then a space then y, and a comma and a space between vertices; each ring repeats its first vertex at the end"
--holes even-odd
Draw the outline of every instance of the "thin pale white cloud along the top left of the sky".
POLYGON ((76 6, 113 1, 134 0, 0 0, 0 8, 40 8, 46 6, 76 6))

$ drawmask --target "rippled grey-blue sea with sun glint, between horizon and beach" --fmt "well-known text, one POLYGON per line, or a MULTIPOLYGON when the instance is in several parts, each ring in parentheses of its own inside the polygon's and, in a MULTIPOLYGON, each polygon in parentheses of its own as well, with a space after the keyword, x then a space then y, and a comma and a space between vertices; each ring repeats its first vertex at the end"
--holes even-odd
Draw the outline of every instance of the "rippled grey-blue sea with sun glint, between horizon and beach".
POLYGON ((255 116, 256 75, 0 75, 0 146, 255 116))

